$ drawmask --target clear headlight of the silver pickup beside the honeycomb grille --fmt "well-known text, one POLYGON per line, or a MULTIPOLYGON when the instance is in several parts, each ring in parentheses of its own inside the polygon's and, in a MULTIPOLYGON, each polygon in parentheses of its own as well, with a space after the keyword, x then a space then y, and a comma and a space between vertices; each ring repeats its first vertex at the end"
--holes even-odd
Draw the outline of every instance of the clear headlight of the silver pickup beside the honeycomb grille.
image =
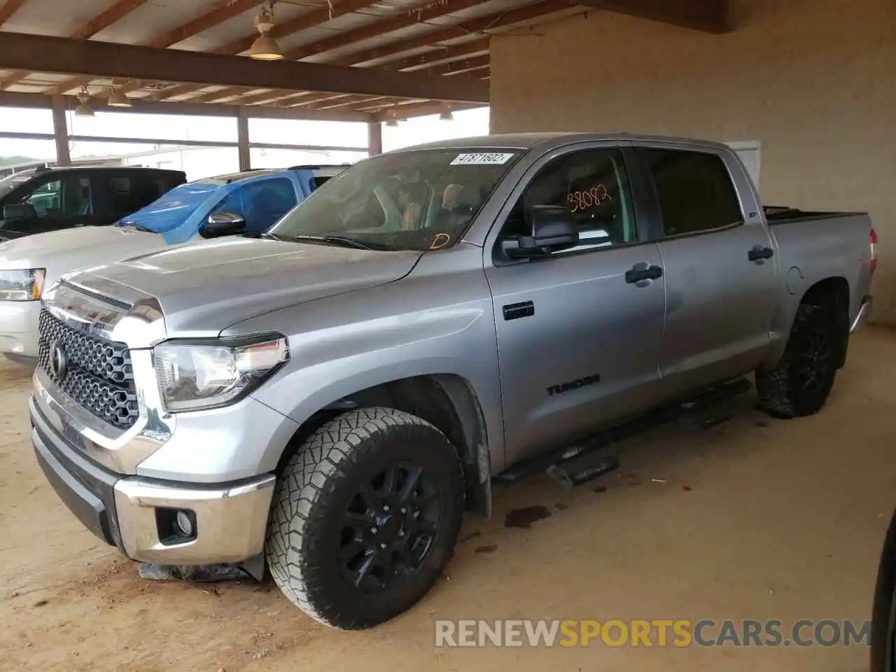
POLYGON ((211 409, 242 399, 289 361, 289 343, 280 334, 169 340, 152 357, 165 409, 211 409))

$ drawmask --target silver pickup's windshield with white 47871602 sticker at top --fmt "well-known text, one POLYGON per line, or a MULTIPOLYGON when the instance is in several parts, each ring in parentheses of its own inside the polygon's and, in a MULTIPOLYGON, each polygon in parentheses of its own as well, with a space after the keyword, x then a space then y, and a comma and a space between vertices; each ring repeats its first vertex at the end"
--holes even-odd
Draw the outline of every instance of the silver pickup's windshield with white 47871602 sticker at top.
POLYGON ((451 247, 522 153, 440 149, 365 159, 328 180, 268 235, 338 237, 375 250, 451 247))

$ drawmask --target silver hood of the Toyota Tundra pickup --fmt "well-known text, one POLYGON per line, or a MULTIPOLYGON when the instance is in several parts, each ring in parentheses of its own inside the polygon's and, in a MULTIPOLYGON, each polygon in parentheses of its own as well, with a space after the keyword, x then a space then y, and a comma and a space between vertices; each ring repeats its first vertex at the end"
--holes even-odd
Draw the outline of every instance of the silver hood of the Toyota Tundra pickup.
POLYGON ((217 334, 271 310, 374 287, 407 275, 423 253, 225 237, 169 246, 73 276, 159 299, 168 334, 217 334))

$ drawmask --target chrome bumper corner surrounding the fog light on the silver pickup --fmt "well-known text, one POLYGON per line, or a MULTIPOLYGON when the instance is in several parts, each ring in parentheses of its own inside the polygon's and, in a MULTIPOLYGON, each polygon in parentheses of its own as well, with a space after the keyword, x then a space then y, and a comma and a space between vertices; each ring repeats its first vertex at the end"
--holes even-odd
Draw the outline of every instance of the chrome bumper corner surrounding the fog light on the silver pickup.
POLYGON ((262 552, 276 478, 221 486, 187 486, 123 478, 115 486, 121 544, 134 560, 160 564, 237 563, 262 552), (156 508, 196 514, 196 538, 159 539, 156 508))

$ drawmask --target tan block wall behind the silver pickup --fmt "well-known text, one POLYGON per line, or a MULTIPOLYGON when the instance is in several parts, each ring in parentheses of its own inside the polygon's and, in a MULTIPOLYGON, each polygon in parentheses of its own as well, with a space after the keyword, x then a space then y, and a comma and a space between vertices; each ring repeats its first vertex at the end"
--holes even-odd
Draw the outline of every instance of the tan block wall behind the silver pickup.
POLYGON ((896 323, 896 1, 735 4, 725 35, 592 12, 493 38, 492 131, 759 140, 765 202, 871 212, 896 323))

